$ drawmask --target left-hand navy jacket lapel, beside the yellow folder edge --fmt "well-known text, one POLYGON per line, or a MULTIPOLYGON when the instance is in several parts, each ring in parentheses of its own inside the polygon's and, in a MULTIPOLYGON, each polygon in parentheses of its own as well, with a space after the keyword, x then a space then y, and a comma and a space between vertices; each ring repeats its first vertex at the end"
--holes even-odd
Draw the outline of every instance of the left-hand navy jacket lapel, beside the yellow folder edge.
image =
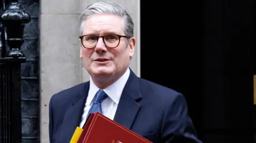
POLYGON ((85 83, 84 90, 79 93, 80 96, 70 102, 70 107, 68 108, 63 119, 60 142, 69 143, 76 130, 76 127, 79 126, 79 123, 81 122, 81 115, 83 114, 84 104, 88 96, 89 87, 89 83, 85 83))

